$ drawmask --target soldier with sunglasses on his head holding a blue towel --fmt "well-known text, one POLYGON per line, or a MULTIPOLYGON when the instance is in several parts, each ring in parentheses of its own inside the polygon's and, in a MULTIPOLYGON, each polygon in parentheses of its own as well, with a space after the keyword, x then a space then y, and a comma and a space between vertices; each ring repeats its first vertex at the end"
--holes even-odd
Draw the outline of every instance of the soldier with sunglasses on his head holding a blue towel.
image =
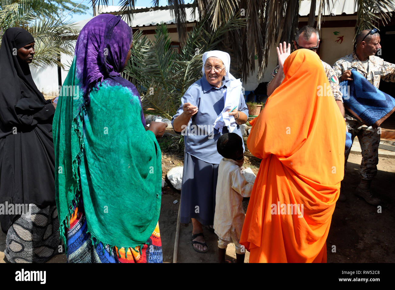
MULTIPOLYGON (((374 56, 381 49, 380 34, 378 29, 363 30, 357 34, 355 39, 356 49, 352 54, 348 54, 335 62, 333 69, 340 81, 352 80, 351 70, 356 70, 363 75, 376 88, 380 84, 380 79, 386 82, 395 82, 395 64, 385 62, 382 58, 374 56)), ((346 124, 348 132, 351 133, 352 141, 358 137, 362 151, 362 162, 359 171, 361 181, 355 190, 355 195, 360 196, 369 204, 378 205, 381 200, 374 196, 371 191, 371 182, 377 174, 378 145, 380 143, 380 130, 367 127, 359 120, 352 117, 346 110, 346 124)), ((345 152, 344 172, 350 150, 345 152)), ((340 193, 339 200, 346 200, 344 192, 340 193)))

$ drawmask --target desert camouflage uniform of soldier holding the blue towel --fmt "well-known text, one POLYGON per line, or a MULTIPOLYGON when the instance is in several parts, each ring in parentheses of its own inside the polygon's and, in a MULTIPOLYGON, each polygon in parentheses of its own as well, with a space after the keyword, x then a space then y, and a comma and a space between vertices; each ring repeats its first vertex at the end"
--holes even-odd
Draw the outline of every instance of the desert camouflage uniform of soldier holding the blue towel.
MULTIPOLYGON (((367 70, 358 59, 355 52, 340 58, 333 65, 337 77, 340 79, 344 71, 356 70, 363 75, 376 88, 380 85, 380 79, 387 82, 395 82, 395 64, 385 62, 378 56, 369 56, 367 70)), ((362 151, 362 162, 359 176, 365 180, 372 180, 377 174, 378 163, 378 145, 380 143, 380 134, 378 129, 372 126, 367 127, 359 120, 352 117, 352 114, 345 109, 346 124, 348 132, 351 133, 351 139, 354 142, 355 136, 358 137, 362 151)), ((346 164, 350 150, 345 152, 344 172, 346 172, 346 164)))

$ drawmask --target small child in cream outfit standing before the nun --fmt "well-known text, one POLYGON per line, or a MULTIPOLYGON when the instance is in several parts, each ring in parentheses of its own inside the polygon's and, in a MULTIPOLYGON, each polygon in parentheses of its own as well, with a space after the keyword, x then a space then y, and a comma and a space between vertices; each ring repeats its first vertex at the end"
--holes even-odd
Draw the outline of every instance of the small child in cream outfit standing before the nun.
POLYGON ((217 141, 217 151, 224 158, 218 167, 215 197, 214 230, 218 241, 218 260, 225 262, 228 243, 236 247, 236 262, 244 263, 245 250, 240 245, 245 212, 243 197, 251 196, 254 183, 248 183, 240 167, 244 163, 243 140, 236 133, 226 133, 217 141))

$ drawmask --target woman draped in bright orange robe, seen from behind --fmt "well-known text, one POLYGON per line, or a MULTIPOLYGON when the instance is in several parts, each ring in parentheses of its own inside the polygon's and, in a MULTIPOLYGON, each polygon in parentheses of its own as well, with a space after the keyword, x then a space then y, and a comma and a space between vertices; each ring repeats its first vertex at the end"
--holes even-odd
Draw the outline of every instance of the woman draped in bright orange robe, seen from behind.
POLYGON ((326 262, 346 124, 318 55, 294 51, 248 136, 261 165, 240 243, 250 262, 326 262))

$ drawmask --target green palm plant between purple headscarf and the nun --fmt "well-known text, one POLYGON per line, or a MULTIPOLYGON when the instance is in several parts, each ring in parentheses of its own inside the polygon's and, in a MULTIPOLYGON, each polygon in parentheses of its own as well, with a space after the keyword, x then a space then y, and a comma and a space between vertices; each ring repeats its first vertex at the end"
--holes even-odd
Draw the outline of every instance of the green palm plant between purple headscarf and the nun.
POLYGON ((231 20, 212 32, 201 22, 189 33, 180 52, 171 49, 166 24, 156 26, 155 37, 148 40, 141 32, 134 34, 132 57, 124 77, 132 81, 142 95, 143 109, 166 117, 173 116, 188 87, 202 76, 201 56, 214 49, 227 32, 245 26, 246 19, 231 20))

